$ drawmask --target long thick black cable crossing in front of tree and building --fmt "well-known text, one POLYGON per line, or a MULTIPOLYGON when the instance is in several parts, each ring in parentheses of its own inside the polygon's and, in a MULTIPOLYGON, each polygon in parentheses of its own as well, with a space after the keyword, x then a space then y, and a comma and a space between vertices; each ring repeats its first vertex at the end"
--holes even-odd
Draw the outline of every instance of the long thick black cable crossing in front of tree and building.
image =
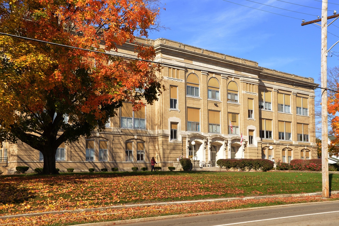
MULTIPOLYGON (((198 68, 194 68, 194 67, 187 67, 187 66, 182 67, 182 66, 178 66, 178 65, 170 64, 170 63, 156 62, 156 61, 151 61, 151 60, 143 60, 143 59, 139 59, 139 58, 136 58, 136 57, 128 57, 128 56, 123 56, 123 55, 119 55, 119 54, 113 54, 113 53, 109 53, 109 52, 100 52, 100 51, 96 51, 96 50, 84 49, 84 48, 79 48, 79 47, 69 46, 69 45, 63 45, 63 44, 53 43, 53 42, 47 42, 47 41, 42 41, 42 40, 39 40, 39 39, 26 38, 26 37, 21 37, 21 36, 17 36, 17 35, 11 35, 11 34, 2 33, 2 32, 0 32, 0 35, 5 35, 5 36, 9 36, 9 37, 14 37, 14 38, 30 40, 30 41, 35 41, 35 42, 42 42, 42 43, 51 44, 51 45, 57 45, 57 46, 62 46, 62 47, 66 47, 66 48, 79 49, 79 50, 84 50, 84 51, 93 52, 93 53, 98 53, 98 54, 111 55, 111 56, 126 58, 126 59, 130 59, 130 60, 145 61, 145 62, 160 64, 160 65, 164 65, 164 66, 181 67, 181 68, 183 68, 183 69, 199 70, 198 68)), ((220 72, 218 72, 218 71, 213 71, 213 70, 208 70, 208 72, 220 74, 220 72)), ((227 74, 227 73, 226 73, 226 75, 237 76, 237 77, 240 77, 240 78, 248 78, 248 77, 246 77, 246 76, 232 75, 232 74, 227 74)), ((275 81, 275 80, 268 80, 268 79, 258 79, 258 81, 277 82, 277 81, 275 81)), ((297 87, 307 87, 307 88, 312 88, 312 89, 317 89, 317 88, 320 88, 320 89, 327 89, 327 88, 322 88, 322 87, 320 87, 320 86, 304 85, 304 84, 292 84, 292 83, 283 82, 283 81, 280 81, 280 83, 282 83, 282 84, 287 84, 287 85, 292 85, 292 86, 294 86, 294 87, 297 86, 297 87)), ((337 91, 335 91, 335 92, 337 92, 337 91)))

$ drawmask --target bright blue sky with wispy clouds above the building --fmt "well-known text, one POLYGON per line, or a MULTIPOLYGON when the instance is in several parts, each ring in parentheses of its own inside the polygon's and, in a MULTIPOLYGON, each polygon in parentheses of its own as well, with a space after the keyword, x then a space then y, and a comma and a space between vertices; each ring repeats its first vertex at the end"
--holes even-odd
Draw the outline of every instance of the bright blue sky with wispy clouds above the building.
MULTIPOLYGON (((321 17, 321 1, 161 0, 161 3, 166 10, 160 12, 159 18, 167 29, 152 32, 149 38, 166 38, 256 61, 262 67, 312 77, 320 84, 321 27, 301 23, 303 19, 312 21, 321 17)), ((334 10, 339 13, 339 2, 329 0, 328 16, 334 10)), ((328 49, 339 40, 339 19, 327 29, 328 49)), ((331 50, 328 68, 339 66, 339 44, 331 50)), ((316 96, 316 101, 321 99, 320 89, 316 96)))

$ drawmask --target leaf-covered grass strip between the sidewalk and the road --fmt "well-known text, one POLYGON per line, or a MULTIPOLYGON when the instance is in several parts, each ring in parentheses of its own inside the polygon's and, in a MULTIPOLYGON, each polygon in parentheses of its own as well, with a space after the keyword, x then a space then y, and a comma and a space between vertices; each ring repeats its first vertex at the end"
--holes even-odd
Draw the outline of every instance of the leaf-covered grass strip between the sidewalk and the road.
MULTIPOLYGON (((124 209, 95 210, 80 213, 45 214, 35 217, 0 219, 0 225, 11 226, 45 226, 51 224, 68 225, 70 223, 91 223, 104 221, 120 221, 135 218, 155 217, 161 215, 187 214, 208 211, 239 209, 254 206, 280 205, 305 202, 321 202, 321 196, 266 198, 235 200, 230 202, 201 202, 180 205, 133 207, 124 209)), ((339 199, 339 194, 332 195, 330 200, 339 199)), ((327 201, 327 200, 326 200, 327 201)))

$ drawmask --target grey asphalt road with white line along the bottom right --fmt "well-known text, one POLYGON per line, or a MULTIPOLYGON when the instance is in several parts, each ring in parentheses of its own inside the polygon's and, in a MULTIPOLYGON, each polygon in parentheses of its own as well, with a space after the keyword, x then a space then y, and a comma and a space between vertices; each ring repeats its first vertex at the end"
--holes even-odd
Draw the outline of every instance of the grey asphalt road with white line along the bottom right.
POLYGON ((218 214, 122 224, 128 226, 327 226, 339 225, 339 201, 251 208, 218 214))

